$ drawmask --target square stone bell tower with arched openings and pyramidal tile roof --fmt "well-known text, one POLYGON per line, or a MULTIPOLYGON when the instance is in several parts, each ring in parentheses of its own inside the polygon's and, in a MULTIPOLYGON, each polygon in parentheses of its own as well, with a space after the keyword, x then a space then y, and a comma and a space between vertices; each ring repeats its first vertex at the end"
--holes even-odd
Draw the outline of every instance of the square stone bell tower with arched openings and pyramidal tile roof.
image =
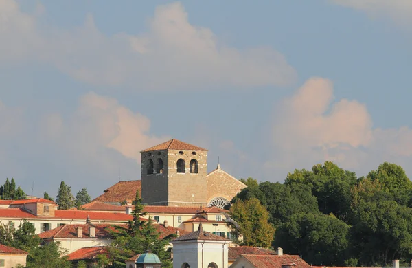
POLYGON ((207 206, 207 150, 171 139, 141 152, 146 205, 207 206))

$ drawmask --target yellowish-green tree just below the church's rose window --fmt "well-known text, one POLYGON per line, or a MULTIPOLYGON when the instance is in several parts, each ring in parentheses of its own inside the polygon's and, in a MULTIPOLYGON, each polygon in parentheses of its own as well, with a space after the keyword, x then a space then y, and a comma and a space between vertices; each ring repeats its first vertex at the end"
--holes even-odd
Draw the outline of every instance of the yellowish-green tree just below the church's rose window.
POLYGON ((269 214, 258 199, 238 200, 231 206, 230 212, 231 218, 240 225, 239 229, 230 226, 236 236, 242 235, 242 245, 271 246, 275 228, 268 222, 269 214))

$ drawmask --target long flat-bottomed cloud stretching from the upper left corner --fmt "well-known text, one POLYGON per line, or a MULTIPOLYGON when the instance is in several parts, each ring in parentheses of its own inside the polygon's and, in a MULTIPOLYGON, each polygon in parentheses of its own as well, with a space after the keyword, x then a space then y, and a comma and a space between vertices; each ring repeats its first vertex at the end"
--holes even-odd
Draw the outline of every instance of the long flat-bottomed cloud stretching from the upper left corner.
POLYGON ((160 5, 148 32, 137 36, 106 36, 92 15, 77 29, 43 25, 12 0, 0 1, 0 23, 0 59, 47 63, 93 85, 211 89, 288 85, 296 76, 271 47, 237 49, 220 43, 210 29, 191 25, 181 3, 160 5))

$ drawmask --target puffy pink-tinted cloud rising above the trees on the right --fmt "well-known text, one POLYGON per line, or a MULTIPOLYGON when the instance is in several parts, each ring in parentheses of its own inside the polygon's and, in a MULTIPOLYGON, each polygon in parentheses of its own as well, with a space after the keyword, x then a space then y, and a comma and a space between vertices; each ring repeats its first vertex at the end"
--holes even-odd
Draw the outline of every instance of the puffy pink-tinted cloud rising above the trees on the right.
POLYGON ((334 101, 332 82, 323 78, 311 78, 275 109, 272 139, 269 173, 328 160, 365 175, 383 161, 402 165, 412 157, 411 129, 374 129, 365 104, 334 101))

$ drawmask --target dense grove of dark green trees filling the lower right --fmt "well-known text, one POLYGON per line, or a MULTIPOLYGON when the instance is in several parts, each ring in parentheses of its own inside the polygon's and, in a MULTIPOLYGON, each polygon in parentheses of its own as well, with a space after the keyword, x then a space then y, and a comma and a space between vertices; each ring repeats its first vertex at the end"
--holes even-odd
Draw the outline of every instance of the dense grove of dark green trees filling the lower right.
POLYGON ((274 237, 248 239, 253 232, 244 231, 249 245, 282 247, 311 265, 411 263, 412 182, 396 164, 384 163, 358 178, 327 161, 289 173, 284 183, 242 181, 248 187, 232 201, 233 219, 262 226, 263 234, 274 232, 274 237), (246 216, 239 208, 253 200, 260 202, 246 216), (275 231, 265 225, 265 215, 275 231))

